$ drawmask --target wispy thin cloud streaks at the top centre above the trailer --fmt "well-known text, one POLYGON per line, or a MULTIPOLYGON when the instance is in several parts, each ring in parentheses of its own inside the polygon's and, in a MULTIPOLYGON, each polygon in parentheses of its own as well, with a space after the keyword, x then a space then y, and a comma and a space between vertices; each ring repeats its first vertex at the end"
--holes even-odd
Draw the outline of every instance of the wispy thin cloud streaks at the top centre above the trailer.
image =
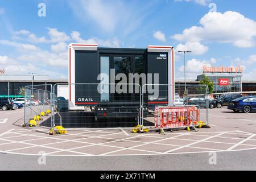
POLYGON ((76 3, 68 1, 75 16, 88 29, 97 30, 102 34, 116 36, 137 37, 148 31, 149 24, 143 20, 152 13, 157 1, 145 1, 138 6, 136 1, 116 0, 77 0, 76 3))

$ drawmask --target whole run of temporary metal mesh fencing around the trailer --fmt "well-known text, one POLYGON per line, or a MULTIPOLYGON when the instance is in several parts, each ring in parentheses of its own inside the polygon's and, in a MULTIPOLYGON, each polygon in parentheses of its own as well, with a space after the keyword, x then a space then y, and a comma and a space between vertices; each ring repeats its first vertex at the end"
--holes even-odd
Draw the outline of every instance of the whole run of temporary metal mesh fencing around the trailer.
MULTIPOLYGON (((147 131, 145 127, 156 126, 155 109, 160 111, 162 107, 177 105, 178 99, 183 99, 181 103, 178 103, 179 105, 197 105, 196 102, 189 102, 190 97, 205 98, 204 104, 203 102, 198 104, 200 108, 205 106, 205 113, 204 115, 200 113, 198 117, 203 118, 202 120, 209 125, 209 96, 208 87, 205 85, 145 84, 141 86, 139 84, 93 83, 26 86, 24 126, 33 126, 36 123, 38 126, 50 128, 53 133, 61 129, 119 127, 132 129, 136 126, 139 131, 143 132, 147 131), (61 86, 65 88, 61 90, 61 86), (170 88, 175 90, 172 93, 175 99, 171 102, 170 88), (102 92, 102 90, 105 91, 102 92)), ((196 109, 197 106, 186 106, 184 111, 179 111, 181 114, 173 113, 172 118, 185 117, 188 119, 186 122, 191 122, 189 108, 195 108, 194 113, 199 110, 196 109)), ((172 127, 181 125, 179 122, 174 122, 174 119, 168 122, 173 125, 172 127)))

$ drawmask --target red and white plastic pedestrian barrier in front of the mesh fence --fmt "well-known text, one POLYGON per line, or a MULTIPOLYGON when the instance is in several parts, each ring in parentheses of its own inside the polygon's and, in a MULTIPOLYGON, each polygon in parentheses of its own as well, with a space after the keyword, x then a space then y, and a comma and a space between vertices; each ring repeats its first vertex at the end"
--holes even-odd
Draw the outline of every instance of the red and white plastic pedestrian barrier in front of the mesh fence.
POLYGON ((159 107, 155 109, 155 127, 172 129, 197 125, 199 114, 197 106, 159 107))

